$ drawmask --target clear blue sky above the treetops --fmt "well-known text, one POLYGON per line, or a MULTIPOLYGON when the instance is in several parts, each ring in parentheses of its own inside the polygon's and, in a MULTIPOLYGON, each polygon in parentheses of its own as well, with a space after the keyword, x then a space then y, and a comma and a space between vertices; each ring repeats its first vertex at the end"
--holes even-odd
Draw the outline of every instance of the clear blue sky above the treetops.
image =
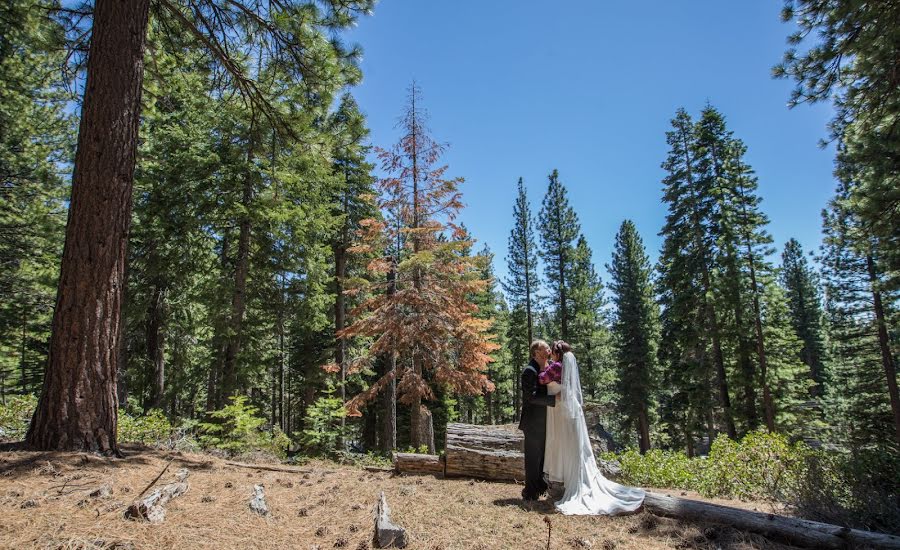
POLYGON ((660 164, 679 107, 709 101, 748 146, 762 208, 780 248, 821 240, 834 189, 832 148, 820 149, 828 105, 788 110, 791 83, 773 80, 792 27, 781 2, 653 0, 382 0, 349 40, 364 49, 353 90, 372 143, 396 141, 415 79, 430 127, 463 176, 462 221, 506 273, 516 181, 535 211, 557 168, 607 282, 615 233, 632 219, 655 261, 664 222, 660 164))

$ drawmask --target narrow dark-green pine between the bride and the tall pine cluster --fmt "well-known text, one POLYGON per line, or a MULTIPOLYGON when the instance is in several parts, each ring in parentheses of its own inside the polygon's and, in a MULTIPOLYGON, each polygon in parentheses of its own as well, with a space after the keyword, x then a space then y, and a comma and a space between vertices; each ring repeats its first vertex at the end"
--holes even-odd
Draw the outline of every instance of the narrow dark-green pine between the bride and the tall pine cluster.
POLYGON ((650 411, 656 384, 659 310, 653 299, 650 260, 631 220, 616 234, 610 273, 615 306, 613 342, 619 409, 638 433, 641 453, 650 449, 650 411))

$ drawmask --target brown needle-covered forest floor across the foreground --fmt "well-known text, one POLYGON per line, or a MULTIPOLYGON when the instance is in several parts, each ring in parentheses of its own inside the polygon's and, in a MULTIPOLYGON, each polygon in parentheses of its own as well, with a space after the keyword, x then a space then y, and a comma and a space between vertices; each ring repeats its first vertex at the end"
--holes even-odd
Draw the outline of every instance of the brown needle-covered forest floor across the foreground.
MULTIPOLYGON (((372 547, 373 509, 385 492, 391 519, 414 549, 602 550, 787 549, 722 525, 683 522, 646 512, 626 517, 572 517, 552 502, 524 503, 520 485, 396 476, 316 461, 295 472, 232 466, 205 454, 126 447, 125 458, 86 453, 0 452, 0 548, 299 548, 372 547), (136 496, 186 468, 188 491, 166 505, 160 524, 123 518, 136 496), (103 484, 112 494, 91 497, 103 484), (271 517, 248 508, 263 484, 271 517)), ((701 499, 769 512, 767 504, 701 499)), ((149 491, 148 491, 149 493, 149 491)))

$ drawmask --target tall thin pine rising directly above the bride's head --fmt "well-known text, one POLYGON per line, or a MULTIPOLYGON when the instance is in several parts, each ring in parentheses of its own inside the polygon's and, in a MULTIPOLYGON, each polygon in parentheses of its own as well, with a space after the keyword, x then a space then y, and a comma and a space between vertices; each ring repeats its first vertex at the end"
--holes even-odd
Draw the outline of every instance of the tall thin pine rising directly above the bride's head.
POLYGON ((573 311, 569 291, 571 282, 567 279, 567 274, 571 273, 575 265, 574 242, 581 233, 581 226, 575 210, 569 206, 566 188, 559 181, 559 172, 553 170, 549 179, 550 184, 538 218, 540 255, 546 264, 545 276, 551 290, 550 303, 554 307, 560 338, 569 340, 573 311))

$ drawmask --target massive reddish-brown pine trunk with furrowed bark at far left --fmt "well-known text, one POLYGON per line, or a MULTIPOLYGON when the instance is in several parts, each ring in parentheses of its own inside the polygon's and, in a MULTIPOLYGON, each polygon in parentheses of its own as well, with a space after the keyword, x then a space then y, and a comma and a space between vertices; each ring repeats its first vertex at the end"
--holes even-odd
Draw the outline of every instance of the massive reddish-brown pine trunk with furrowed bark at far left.
POLYGON ((116 368, 149 0, 97 0, 50 354, 27 442, 118 452, 116 368))

